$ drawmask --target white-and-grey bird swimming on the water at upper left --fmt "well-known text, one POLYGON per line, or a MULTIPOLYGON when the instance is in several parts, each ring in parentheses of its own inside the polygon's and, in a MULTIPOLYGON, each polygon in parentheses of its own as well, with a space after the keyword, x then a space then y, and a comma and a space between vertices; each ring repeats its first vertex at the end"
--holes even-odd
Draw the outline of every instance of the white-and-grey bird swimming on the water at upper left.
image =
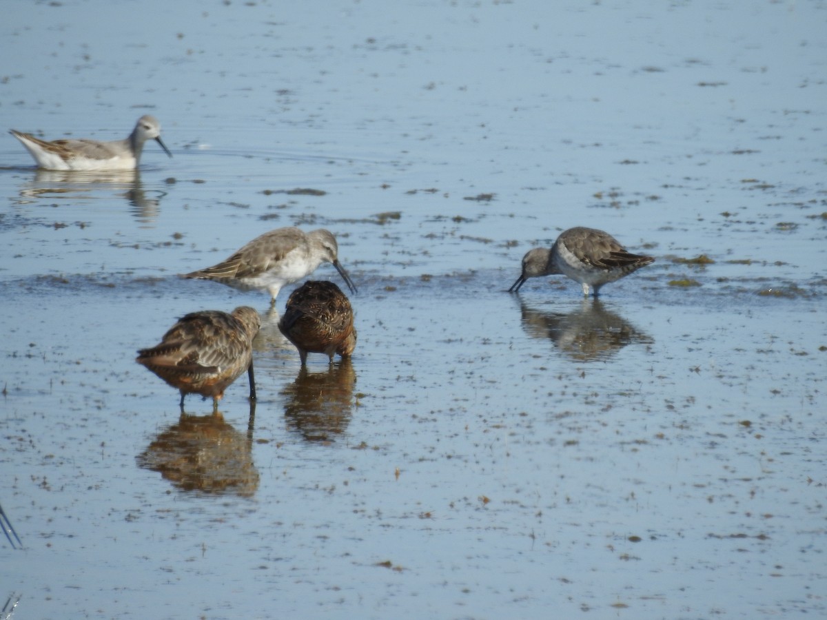
POLYGON ((155 140, 172 157, 160 139, 160 123, 148 114, 138 119, 128 138, 112 142, 83 139, 47 142, 22 131, 12 129, 9 133, 22 142, 39 168, 47 170, 135 169, 147 140, 155 140))

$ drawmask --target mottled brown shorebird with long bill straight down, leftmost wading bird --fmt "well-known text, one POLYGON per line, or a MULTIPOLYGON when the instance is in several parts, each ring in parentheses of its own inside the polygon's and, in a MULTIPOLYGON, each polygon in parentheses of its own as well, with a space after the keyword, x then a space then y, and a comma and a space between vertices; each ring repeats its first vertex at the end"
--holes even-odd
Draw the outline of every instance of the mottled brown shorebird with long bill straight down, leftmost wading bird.
POLYGON ((258 312, 241 306, 227 314, 218 310, 190 312, 170 327, 160 344, 138 351, 136 362, 164 379, 184 396, 213 398, 213 411, 224 390, 245 370, 250 399, 256 399, 252 341, 261 327, 258 312))

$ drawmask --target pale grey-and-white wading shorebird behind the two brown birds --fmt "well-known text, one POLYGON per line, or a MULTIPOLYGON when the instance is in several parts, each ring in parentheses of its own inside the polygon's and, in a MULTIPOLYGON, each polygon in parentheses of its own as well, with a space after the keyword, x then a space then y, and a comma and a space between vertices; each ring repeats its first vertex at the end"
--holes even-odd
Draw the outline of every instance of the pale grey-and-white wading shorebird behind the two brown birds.
POLYGON ((184 278, 210 279, 235 289, 266 289, 270 305, 281 287, 312 274, 318 265, 332 263, 345 280, 351 293, 356 293, 347 271, 338 258, 336 237, 319 228, 305 233, 298 228, 276 228, 257 236, 227 260, 199 269, 184 278))

